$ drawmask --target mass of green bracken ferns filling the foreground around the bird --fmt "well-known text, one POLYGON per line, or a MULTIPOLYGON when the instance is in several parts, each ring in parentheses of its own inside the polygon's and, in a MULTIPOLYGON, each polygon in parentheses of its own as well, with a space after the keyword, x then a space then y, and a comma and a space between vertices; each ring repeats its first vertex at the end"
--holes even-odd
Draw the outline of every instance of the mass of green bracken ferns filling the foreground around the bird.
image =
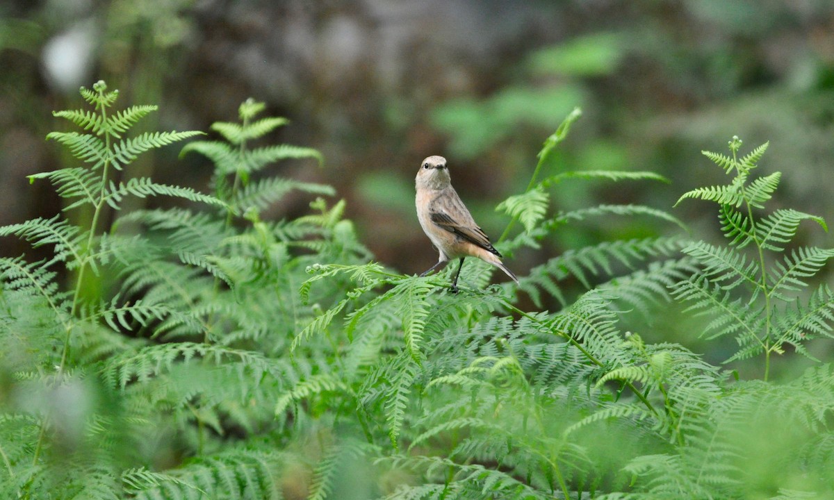
POLYGON ((183 148, 214 164, 203 194, 117 175, 199 133, 128 138, 155 107, 114 112, 118 93, 103 82, 81 93, 93 111, 55 114, 82 132, 48 135, 79 166, 30 177, 53 183, 63 213, 0 228, 51 251, 0 259, 3 498, 834 492, 834 370, 817 362, 775 383, 772 368, 776 356, 813 358, 813 341, 831 337, 834 298, 814 279, 834 251, 794 244, 803 221, 826 228, 822 218, 762 212, 780 179, 754 176, 766 144, 740 156, 733 138, 730 155, 705 153, 733 177, 681 197, 718 205, 719 245, 669 236, 682 224, 648 206, 552 210, 566 183, 665 181, 604 170, 540 179, 572 112, 525 192, 500 204, 510 223, 496 247, 511 255, 612 216, 655 219, 667 234, 571 248, 519 288, 489 285, 494 268, 467 262, 455 294, 449 272, 418 278, 375 263, 343 201, 267 218, 289 192, 335 193, 267 173, 323 158, 253 147, 286 123, 260 117, 262 103, 215 123, 222 140, 183 148), (147 196, 187 205, 119 210, 147 196), (680 328, 697 325, 707 346, 735 336, 726 363, 644 340, 663 309, 680 328), (742 378, 736 363, 757 357, 761 378, 742 378))

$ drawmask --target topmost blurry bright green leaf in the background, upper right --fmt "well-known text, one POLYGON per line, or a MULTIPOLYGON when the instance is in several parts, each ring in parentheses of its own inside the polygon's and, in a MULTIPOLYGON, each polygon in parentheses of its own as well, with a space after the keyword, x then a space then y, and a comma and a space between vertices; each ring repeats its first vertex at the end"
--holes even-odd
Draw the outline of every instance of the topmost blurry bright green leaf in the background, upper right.
POLYGON ((530 56, 530 69, 536 73, 606 75, 614 71, 622 57, 622 43, 614 33, 596 33, 547 47, 530 56))

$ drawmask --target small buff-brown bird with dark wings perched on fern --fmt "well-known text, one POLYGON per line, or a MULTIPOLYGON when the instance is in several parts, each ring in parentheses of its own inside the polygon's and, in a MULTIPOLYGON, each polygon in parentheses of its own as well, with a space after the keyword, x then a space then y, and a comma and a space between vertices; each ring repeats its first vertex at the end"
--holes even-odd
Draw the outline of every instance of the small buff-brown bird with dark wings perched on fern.
POLYGON ((515 274, 501 262, 503 256, 495 250, 490 238, 478 227, 469 210, 460 201, 455 188, 452 188, 446 158, 430 156, 423 160, 414 184, 417 188, 417 218, 420 219, 420 226, 440 252, 438 263, 420 276, 431 273, 452 259, 460 258, 458 272, 452 280, 452 291, 457 292, 464 259, 477 257, 500 268, 515 283, 519 283, 515 274))

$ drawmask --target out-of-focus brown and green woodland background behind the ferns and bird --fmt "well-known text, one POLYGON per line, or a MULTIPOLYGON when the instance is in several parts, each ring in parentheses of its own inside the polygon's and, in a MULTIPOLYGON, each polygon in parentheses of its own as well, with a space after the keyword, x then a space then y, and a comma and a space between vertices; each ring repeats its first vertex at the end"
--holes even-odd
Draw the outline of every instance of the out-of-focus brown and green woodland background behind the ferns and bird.
MULTIPOLYGON (((47 183, 30 187, 25 176, 67 160, 44 141, 67 127, 51 112, 79 107, 78 87, 99 78, 123 105, 158 104, 143 122, 152 129, 208 130, 234 120, 246 97, 267 102, 292 121, 268 141, 326 158, 323 169, 287 163, 282 175, 336 186, 376 258, 403 273, 436 259, 414 214, 422 158, 448 158, 461 197, 497 238, 508 220, 495 205, 525 188, 541 143, 575 106, 585 114, 551 173, 651 170, 672 183, 564 184, 555 211, 645 203, 717 238, 710 206, 671 205, 724 182, 700 151, 724 152, 737 134, 745 151, 771 141, 762 168, 784 173, 777 206, 834 221, 830 0, 6 0, 0 68, 0 224, 59 208, 47 183)), ((177 151, 144 157, 134 175, 204 188, 210 165, 177 151)), ((654 223, 565 228, 510 267, 525 273, 600 238, 676 230, 640 224, 654 223)), ((0 244, 3 255, 28 252, 0 244)))

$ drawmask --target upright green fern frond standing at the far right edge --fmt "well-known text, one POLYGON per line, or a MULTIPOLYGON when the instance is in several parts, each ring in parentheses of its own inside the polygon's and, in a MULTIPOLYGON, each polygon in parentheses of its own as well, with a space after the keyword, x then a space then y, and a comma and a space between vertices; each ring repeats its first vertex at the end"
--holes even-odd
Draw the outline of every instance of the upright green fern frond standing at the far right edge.
MULTIPOLYGON (((685 193, 719 204, 719 218, 726 246, 691 243, 683 252, 701 268, 677 283, 676 297, 691 303, 689 310, 711 318, 704 334, 711 338, 734 335, 739 349, 728 361, 765 355, 765 379, 771 355, 785 352, 790 345, 797 353, 811 356, 804 344, 812 338, 834 336, 834 302, 826 283, 802 304, 801 292, 823 268, 834 249, 800 247, 785 253, 796 236, 799 223, 811 220, 826 229, 822 218, 789 208, 762 216, 779 183, 781 174, 751 179, 751 171, 767 149, 767 143, 738 158, 741 140, 729 143, 731 156, 704 152, 707 158, 735 174, 730 183, 698 188, 685 193)), ((680 201, 678 203, 680 203, 680 201)))

